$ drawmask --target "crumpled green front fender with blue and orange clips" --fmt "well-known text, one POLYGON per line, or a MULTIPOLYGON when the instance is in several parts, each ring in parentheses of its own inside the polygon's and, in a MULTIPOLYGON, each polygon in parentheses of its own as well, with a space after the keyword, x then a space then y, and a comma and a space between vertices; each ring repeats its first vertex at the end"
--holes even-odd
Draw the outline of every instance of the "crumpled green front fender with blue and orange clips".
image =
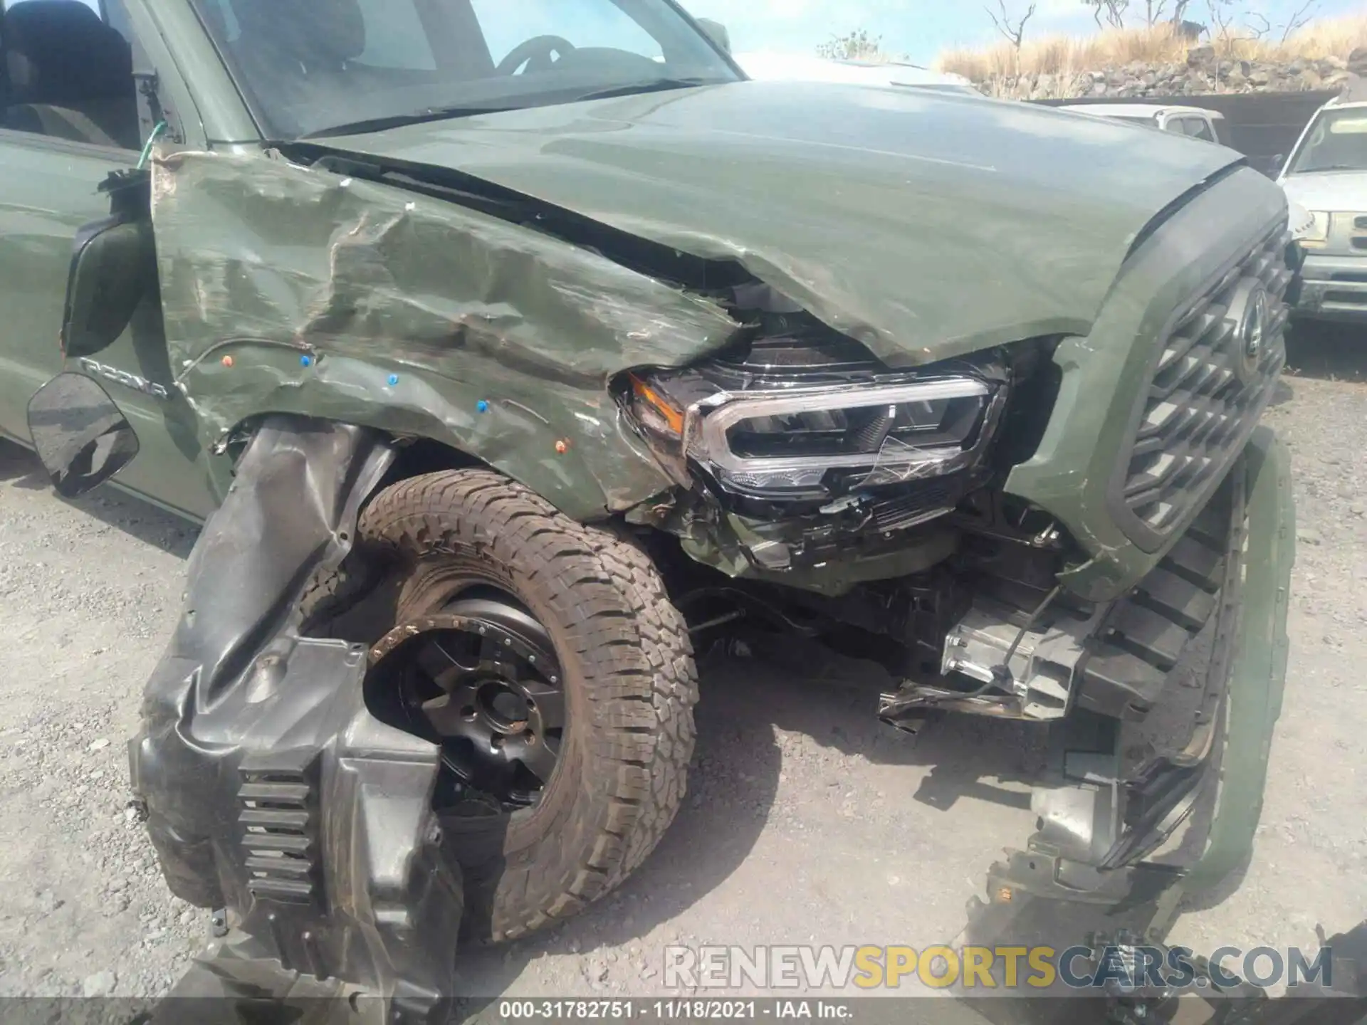
POLYGON ((608 380, 740 329, 534 224, 279 157, 165 156, 152 216, 171 366, 206 448, 306 413, 442 441, 600 518, 673 487, 608 380))

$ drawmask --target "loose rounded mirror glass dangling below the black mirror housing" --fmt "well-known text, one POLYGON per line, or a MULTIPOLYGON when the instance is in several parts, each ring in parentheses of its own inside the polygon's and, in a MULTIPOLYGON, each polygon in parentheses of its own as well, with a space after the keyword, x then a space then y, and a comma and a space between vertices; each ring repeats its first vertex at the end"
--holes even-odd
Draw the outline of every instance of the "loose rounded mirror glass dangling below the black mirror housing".
POLYGON ((119 407, 79 373, 60 373, 38 388, 29 400, 29 436, 66 499, 104 484, 138 454, 138 436, 119 407))

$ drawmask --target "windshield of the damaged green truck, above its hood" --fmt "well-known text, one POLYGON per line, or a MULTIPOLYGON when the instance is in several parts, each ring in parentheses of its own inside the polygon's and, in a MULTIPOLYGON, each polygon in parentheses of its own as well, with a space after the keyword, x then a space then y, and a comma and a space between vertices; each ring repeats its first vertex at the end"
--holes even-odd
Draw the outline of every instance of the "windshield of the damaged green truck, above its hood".
POLYGON ((273 139, 738 75, 667 0, 194 0, 273 139))

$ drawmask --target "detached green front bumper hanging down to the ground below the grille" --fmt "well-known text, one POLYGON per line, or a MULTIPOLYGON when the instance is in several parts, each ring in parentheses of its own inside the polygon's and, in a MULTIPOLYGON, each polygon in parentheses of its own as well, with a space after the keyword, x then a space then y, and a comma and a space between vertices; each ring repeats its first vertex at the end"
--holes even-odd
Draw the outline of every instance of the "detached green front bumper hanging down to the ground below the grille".
POLYGON ((969 943, 1158 940, 1184 894, 1247 860, 1285 686, 1295 508, 1289 456, 1270 430, 1254 435, 1243 466, 1241 615, 1213 640, 1219 708, 1208 742, 1126 768, 1124 730, 1070 718, 1033 793, 1038 831, 992 866, 969 943))

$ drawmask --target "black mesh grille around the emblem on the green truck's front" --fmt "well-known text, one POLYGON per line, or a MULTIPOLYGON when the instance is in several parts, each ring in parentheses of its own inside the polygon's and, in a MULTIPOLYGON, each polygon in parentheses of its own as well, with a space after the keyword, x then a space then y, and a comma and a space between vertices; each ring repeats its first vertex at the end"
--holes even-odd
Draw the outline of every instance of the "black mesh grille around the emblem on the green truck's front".
POLYGON ((1182 314, 1163 340, 1125 474, 1124 499, 1155 534, 1184 522, 1252 433, 1286 362, 1282 332, 1290 235, 1260 242, 1182 314), (1271 299, 1260 351, 1247 357, 1240 297, 1260 283, 1271 299))

